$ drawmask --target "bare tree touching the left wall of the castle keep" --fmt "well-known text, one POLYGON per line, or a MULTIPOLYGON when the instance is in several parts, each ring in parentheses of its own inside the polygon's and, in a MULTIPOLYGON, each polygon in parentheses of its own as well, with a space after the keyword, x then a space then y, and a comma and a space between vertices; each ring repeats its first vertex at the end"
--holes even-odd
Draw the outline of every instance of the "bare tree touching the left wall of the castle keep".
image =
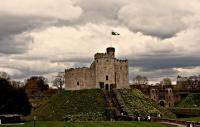
POLYGON ((55 79, 53 80, 53 86, 57 87, 58 90, 63 90, 64 86, 64 73, 59 72, 57 76, 55 76, 55 79))

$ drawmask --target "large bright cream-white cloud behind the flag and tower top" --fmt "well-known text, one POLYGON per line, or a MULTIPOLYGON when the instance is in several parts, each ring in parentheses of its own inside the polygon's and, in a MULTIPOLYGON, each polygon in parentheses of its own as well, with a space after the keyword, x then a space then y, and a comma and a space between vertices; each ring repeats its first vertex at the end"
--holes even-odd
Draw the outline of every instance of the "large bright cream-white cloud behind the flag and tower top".
POLYGON ((105 52, 111 42, 118 56, 137 57, 144 54, 171 53, 171 42, 131 32, 128 28, 105 24, 85 24, 75 27, 49 27, 40 31, 31 31, 32 47, 26 55, 48 59, 70 59, 93 57, 96 52, 105 52), (111 37, 111 30, 120 32, 120 36, 111 37))

